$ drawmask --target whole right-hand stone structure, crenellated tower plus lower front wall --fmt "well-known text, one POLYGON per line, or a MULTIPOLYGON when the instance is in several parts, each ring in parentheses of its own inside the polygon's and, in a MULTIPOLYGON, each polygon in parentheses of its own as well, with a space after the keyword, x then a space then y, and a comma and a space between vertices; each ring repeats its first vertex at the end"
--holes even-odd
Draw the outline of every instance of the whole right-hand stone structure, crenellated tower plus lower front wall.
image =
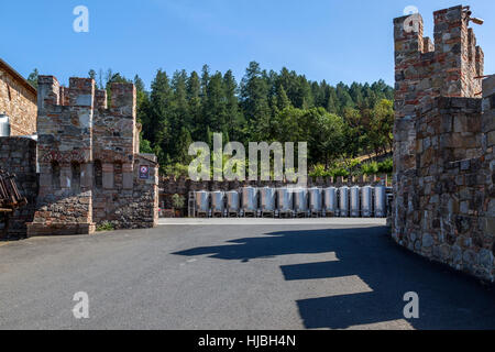
POLYGON ((430 260, 494 282, 494 82, 470 9, 394 20, 393 237, 430 260), (483 98, 483 99, 482 99, 483 98))

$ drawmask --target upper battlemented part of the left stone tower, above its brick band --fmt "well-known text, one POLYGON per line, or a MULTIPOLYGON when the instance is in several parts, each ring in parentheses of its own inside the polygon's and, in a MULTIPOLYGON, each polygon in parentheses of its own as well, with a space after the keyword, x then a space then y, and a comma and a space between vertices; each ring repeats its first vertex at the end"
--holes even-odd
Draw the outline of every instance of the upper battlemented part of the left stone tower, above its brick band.
POLYGON ((70 78, 63 87, 54 76, 38 78, 37 133, 41 161, 133 163, 139 153, 136 92, 132 84, 96 89, 91 78, 70 78), (53 142, 56 142, 54 147, 53 142))

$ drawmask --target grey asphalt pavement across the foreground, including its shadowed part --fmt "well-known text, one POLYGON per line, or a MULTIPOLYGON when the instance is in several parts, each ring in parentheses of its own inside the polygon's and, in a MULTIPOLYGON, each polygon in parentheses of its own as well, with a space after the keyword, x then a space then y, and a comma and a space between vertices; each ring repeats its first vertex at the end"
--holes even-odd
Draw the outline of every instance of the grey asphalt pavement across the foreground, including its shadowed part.
POLYGON ((0 329, 495 328, 494 292, 383 223, 195 223, 0 243, 0 329), (420 319, 403 316, 407 292, 420 319))

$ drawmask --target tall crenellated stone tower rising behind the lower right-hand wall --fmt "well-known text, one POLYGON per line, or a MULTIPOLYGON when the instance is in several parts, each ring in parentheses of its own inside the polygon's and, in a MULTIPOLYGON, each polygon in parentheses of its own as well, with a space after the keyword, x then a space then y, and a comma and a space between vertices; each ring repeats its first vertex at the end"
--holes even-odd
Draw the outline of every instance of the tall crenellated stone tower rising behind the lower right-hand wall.
POLYGON ((415 119, 436 97, 481 98, 484 55, 476 46, 469 7, 433 13, 435 43, 424 37, 419 13, 394 20, 395 41, 395 167, 416 167, 415 119))

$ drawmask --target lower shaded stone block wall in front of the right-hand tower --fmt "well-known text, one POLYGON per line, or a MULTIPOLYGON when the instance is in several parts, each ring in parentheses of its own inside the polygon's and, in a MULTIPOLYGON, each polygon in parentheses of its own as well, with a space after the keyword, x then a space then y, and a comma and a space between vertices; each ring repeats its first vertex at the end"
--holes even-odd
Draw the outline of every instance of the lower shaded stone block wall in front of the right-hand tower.
POLYGON ((493 280, 495 201, 482 148, 481 99, 440 97, 417 121, 417 167, 395 198, 394 238, 424 256, 493 280), (491 220, 488 220, 491 221, 491 220))

